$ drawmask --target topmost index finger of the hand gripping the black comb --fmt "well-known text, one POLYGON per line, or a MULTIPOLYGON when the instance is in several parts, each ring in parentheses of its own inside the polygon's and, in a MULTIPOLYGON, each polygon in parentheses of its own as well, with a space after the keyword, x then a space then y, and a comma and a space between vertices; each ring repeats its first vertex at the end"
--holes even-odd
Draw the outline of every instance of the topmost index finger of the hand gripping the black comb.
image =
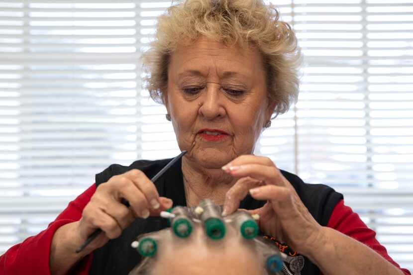
POLYGON ((145 173, 138 169, 133 169, 126 172, 124 176, 130 179, 139 188, 139 190, 141 190, 152 209, 159 208, 160 204, 158 190, 156 189, 155 184, 152 183, 148 177, 146 177, 145 173))

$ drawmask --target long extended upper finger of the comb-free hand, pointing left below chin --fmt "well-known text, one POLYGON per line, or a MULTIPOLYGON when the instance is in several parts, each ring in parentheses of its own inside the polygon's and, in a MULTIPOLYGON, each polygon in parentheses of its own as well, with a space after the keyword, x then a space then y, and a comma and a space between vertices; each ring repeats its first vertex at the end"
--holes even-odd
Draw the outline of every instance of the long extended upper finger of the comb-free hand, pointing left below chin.
MULTIPOLYGON (((256 180, 264 181, 268 184, 286 186, 280 170, 275 166, 265 166, 261 164, 244 164, 232 166, 225 170, 226 173, 235 178, 251 177, 256 180)), ((288 184, 289 185, 289 184, 288 184)))

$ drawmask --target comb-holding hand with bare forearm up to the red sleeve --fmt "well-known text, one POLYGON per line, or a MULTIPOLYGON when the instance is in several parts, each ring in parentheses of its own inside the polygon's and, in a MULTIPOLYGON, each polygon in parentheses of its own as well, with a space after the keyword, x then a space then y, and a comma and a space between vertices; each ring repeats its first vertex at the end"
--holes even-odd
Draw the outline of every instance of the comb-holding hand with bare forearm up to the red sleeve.
POLYGON ((50 274, 68 274, 83 257, 117 238, 136 217, 147 218, 172 206, 172 200, 159 197, 155 185, 142 171, 130 170, 113 176, 96 189, 85 206, 79 221, 59 227, 50 247, 50 274), (126 199, 130 207, 121 203, 126 199), (96 230, 104 233, 94 239, 80 253, 75 250, 96 230))

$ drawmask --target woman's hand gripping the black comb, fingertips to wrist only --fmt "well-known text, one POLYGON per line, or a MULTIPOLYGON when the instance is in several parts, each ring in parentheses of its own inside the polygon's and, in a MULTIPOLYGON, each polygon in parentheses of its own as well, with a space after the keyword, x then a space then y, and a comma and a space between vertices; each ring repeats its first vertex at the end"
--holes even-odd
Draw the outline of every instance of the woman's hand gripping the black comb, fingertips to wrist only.
POLYGON ((100 184, 77 223, 77 236, 86 240, 96 229, 103 233, 86 248, 86 254, 103 246, 109 239, 119 237, 135 218, 146 219, 172 207, 172 200, 160 197, 154 183, 137 169, 113 176, 100 184), (129 202, 127 207, 122 199, 129 202))

